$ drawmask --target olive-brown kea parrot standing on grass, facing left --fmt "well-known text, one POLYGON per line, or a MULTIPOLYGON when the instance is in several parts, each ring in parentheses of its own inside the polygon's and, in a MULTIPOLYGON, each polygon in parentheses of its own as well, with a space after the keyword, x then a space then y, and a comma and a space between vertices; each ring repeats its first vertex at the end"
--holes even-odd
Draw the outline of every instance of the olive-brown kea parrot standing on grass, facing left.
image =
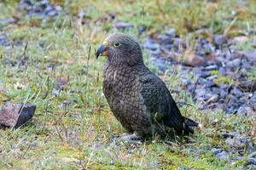
POLYGON ((113 115, 137 137, 189 135, 199 124, 181 115, 165 82, 143 62, 139 43, 120 32, 105 38, 96 59, 106 56, 102 90, 113 115))

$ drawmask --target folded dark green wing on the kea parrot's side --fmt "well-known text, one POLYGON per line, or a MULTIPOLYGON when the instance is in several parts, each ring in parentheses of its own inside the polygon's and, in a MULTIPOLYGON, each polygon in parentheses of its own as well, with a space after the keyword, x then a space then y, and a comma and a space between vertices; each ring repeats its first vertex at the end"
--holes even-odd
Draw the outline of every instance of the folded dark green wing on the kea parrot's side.
POLYGON ((144 104, 150 111, 151 118, 164 122, 166 126, 174 127, 177 131, 183 130, 185 118, 180 114, 166 84, 151 72, 143 75, 140 82, 144 104))

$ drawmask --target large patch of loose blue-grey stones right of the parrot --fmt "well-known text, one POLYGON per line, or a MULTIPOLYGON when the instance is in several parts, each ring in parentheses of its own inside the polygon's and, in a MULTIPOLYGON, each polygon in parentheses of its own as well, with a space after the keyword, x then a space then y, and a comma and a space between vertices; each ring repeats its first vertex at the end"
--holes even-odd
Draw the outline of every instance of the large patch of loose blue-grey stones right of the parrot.
POLYGON ((165 34, 148 37, 143 47, 150 51, 160 70, 182 67, 183 89, 200 103, 201 109, 255 114, 256 80, 247 75, 255 73, 256 49, 236 49, 239 38, 246 37, 198 37, 191 45, 171 28, 165 34), (191 74, 194 80, 189 78, 191 74))

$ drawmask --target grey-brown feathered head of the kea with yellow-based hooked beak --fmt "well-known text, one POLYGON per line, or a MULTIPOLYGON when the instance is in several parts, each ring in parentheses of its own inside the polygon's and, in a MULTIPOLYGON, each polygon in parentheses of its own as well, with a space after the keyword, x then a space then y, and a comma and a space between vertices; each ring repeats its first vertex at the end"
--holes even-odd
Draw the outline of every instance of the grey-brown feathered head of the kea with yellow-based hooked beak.
POLYGON ((96 59, 99 56, 107 56, 111 65, 143 64, 143 54, 139 44, 132 37, 122 33, 114 33, 105 38, 96 51, 96 59))

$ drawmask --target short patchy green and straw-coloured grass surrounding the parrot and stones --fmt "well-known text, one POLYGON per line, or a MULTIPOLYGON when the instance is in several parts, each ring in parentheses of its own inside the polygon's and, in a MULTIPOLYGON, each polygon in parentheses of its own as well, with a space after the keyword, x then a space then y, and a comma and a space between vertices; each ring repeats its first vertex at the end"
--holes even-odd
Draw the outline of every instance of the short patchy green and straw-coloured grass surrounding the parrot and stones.
MULTIPOLYGON (((120 141, 116 136, 125 129, 102 95, 105 59, 96 61, 94 52, 113 31, 110 14, 131 22, 134 27, 125 32, 137 35, 140 42, 169 26, 183 37, 191 37, 191 32, 201 28, 240 35, 244 29, 250 33, 247 26, 254 26, 254 1, 247 7, 231 0, 52 2, 61 3, 72 15, 61 14, 56 20, 42 22, 16 13, 15 1, 0 3, 0 18, 20 17, 18 25, 2 28, 14 45, 10 49, 0 47, 0 84, 5 89, 0 97, 37 105, 31 122, 17 129, 0 129, 1 169, 241 169, 245 165, 246 159, 230 163, 236 154, 219 160, 211 149, 228 147, 220 135, 223 132, 238 131, 247 136, 253 116, 200 111, 199 104, 179 88, 181 93, 173 94, 174 98, 192 104, 181 107, 183 114, 205 125, 196 130, 189 143, 154 140, 133 145, 120 141), (76 22, 80 9, 90 16, 85 19, 86 26, 76 22), (137 26, 146 26, 147 31, 138 36, 137 26)), ((155 71, 146 54, 146 63, 155 71)), ((161 78, 170 89, 181 87, 178 71, 169 71, 161 78)))

